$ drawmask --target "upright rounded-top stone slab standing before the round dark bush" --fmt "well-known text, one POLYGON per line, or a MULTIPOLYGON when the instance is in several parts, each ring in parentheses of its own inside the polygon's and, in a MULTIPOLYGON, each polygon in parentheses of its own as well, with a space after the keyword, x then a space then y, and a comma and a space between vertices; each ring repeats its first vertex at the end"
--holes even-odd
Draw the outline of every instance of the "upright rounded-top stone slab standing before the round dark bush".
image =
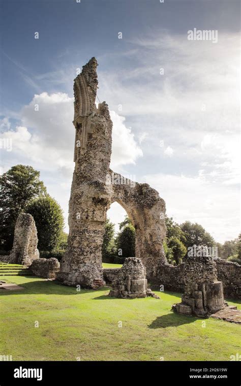
POLYGON ((9 263, 30 266, 34 260, 39 259, 37 245, 38 236, 34 217, 28 213, 21 213, 15 225, 9 263))

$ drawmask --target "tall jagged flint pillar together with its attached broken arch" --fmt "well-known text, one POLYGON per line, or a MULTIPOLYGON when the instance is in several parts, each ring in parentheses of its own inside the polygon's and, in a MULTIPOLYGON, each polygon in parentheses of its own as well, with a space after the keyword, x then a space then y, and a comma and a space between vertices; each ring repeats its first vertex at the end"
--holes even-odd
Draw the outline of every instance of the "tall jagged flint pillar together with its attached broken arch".
POLYGON ((68 247, 58 279, 87 288, 104 285, 101 248, 106 211, 118 202, 136 230, 136 257, 147 278, 167 263, 165 202, 147 184, 126 179, 109 169, 112 121, 108 105, 96 107, 97 60, 93 57, 74 80, 75 169, 69 201, 68 247))

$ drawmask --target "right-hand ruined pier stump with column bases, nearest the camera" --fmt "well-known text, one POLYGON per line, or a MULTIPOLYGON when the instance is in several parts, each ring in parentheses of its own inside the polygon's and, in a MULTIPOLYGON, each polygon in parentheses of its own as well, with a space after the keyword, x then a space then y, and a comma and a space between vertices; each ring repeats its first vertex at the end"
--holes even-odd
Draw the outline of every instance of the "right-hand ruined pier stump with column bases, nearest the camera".
POLYGON ((207 247, 199 246, 200 256, 188 256, 184 264, 185 293, 182 303, 172 306, 173 311, 201 317, 224 309, 223 284, 218 281, 215 261, 207 247))

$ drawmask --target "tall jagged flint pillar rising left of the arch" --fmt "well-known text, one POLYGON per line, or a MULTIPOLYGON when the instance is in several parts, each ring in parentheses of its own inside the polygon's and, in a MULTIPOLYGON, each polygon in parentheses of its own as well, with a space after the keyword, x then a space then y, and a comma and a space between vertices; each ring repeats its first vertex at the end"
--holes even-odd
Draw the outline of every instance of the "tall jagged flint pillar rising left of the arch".
POLYGON ((85 287, 103 285, 101 247, 106 208, 105 183, 111 155, 112 122, 108 106, 95 106, 97 61, 92 58, 74 81, 75 169, 69 201, 69 238, 58 278, 85 287))

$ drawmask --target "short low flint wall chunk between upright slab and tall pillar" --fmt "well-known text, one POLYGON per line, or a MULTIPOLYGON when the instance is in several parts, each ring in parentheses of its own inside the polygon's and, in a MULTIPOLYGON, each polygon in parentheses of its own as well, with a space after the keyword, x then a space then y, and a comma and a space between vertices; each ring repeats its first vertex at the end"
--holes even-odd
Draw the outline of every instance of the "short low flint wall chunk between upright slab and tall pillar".
POLYGON ((56 273, 59 271, 60 264, 55 258, 51 259, 37 259, 34 260, 31 267, 31 271, 40 277, 47 279, 55 279, 56 273))

